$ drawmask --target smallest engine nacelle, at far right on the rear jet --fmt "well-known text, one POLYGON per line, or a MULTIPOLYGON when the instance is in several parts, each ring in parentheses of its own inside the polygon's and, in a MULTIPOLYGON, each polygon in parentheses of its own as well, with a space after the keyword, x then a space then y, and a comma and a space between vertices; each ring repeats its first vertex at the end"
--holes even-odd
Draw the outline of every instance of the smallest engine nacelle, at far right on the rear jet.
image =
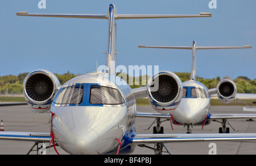
POLYGON ((232 80, 221 80, 217 85, 217 96, 223 103, 230 103, 236 97, 237 86, 232 80))

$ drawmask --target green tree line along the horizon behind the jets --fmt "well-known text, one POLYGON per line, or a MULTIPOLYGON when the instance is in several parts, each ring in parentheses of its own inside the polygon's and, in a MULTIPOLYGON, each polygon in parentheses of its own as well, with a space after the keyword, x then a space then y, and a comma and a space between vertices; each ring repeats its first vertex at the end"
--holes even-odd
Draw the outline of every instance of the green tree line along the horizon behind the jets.
MULTIPOLYGON (((0 76, 0 93, 1 94, 22 94, 23 81, 28 73, 21 73, 18 76, 14 76, 12 74, 8 76, 0 76)), ((182 82, 188 81, 191 74, 186 72, 175 72, 177 76, 180 77, 182 82)), ((70 72, 64 74, 57 74, 55 76, 59 79, 60 84, 63 85, 65 82, 70 80, 73 77, 79 76, 80 74, 73 74, 70 72)), ((131 88, 138 88, 141 86, 145 86, 147 84, 147 80, 150 78, 149 76, 140 76, 140 77, 131 77, 126 73, 117 73, 117 76, 127 80, 127 82, 133 82, 133 85, 130 85, 131 88), (131 81, 133 79, 133 81, 131 81)), ((220 77, 216 78, 201 78, 197 77, 197 81, 200 81, 208 89, 216 88, 218 82, 221 81, 220 77)), ((237 85, 237 93, 256 93, 256 78, 254 80, 250 80, 246 76, 240 76, 233 80, 237 85)))

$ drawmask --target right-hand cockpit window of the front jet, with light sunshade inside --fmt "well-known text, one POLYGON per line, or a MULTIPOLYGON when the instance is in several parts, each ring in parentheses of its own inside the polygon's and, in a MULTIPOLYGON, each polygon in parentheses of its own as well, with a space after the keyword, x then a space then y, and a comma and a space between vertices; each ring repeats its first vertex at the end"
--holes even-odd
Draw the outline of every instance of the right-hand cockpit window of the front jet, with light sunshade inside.
POLYGON ((90 103, 93 105, 118 105, 124 101, 117 89, 92 85, 90 87, 90 103))

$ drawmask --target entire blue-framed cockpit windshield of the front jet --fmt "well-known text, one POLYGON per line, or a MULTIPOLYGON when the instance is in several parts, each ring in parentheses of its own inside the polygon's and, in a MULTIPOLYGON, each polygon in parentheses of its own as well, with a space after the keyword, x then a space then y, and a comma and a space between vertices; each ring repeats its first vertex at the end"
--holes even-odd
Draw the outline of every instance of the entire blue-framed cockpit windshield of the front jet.
POLYGON ((65 85, 53 99, 55 106, 103 106, 125 103, 116 88, 95 84, 65 85))

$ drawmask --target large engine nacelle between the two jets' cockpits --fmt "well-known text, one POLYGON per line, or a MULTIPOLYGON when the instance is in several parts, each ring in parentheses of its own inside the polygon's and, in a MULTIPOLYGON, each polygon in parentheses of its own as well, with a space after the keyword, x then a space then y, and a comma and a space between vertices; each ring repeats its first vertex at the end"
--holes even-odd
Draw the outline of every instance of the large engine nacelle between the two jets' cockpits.
POLYGON ((148 101, 161 114, 175 110, 183 96, 180 78, 168 71, 162 71, 150 78, 147 84, 148 101))

